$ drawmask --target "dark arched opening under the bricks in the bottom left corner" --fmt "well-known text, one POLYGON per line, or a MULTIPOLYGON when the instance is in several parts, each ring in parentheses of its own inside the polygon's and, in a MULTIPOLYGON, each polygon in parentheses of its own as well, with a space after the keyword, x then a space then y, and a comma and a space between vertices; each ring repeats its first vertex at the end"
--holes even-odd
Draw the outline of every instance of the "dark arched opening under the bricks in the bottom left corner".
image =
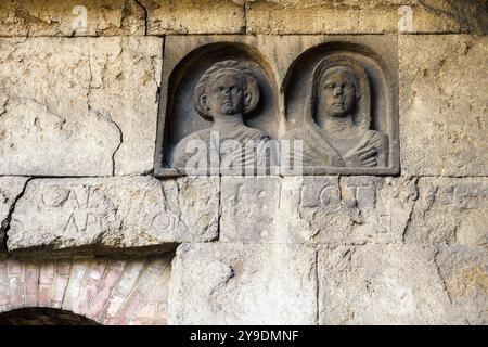
POLYGON ((0 325, 99 325, 99 323, 70 311, 31 307, 0 313, 0 325))

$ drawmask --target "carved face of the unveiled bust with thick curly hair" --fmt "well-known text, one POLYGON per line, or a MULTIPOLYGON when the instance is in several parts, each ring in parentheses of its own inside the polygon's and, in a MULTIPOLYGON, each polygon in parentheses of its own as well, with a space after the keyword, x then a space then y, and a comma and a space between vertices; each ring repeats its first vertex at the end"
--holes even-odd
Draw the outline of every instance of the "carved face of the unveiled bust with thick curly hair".
POLYGON ((203 98, 211 115, 231 116, 243 112, 246 94, 242 76, 224 74, 210 82, 203 98))

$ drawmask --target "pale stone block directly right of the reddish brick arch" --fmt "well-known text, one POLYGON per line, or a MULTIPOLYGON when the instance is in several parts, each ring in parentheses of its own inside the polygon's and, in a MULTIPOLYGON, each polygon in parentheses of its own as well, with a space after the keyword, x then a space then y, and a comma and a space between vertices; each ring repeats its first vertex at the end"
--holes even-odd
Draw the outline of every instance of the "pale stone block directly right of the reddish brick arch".
POLYGON ((172 264, 169 324, 314 324, 314 248, 183 244, 172 264))

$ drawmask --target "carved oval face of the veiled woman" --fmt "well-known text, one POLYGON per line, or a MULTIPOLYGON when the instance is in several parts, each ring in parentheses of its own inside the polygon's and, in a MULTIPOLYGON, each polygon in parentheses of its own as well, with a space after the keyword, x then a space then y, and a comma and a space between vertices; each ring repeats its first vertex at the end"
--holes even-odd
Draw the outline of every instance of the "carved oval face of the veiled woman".
POLYGON ((356 87, 345 69, 337 69, 323 76, 318 86, 318 102, 330 117, 344 117, 356 107, 356 87))

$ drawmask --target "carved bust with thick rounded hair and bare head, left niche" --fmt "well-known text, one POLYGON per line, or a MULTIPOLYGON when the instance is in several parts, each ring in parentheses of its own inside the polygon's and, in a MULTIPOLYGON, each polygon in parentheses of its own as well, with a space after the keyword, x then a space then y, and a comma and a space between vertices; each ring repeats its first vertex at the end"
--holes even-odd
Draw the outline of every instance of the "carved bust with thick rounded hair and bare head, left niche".
POLYGON ((256 153, 254 147, 246 146, 255 143, 259 147, 259 143, 270 139, 266 132, 244 124, 245 115, 254 111, 258 102, 258 82, 246 66, 236 61, 211 66, 195 88, 194 103, 198 114, 214 124, 209 129, 193 132, 181 140, 171 153, 170 165, 184 168, 194 155, 192 147, 195 142, 204 143, 208 158, 219 158, 220 165, 234 168, 267 165, 259 151, 256 153))

